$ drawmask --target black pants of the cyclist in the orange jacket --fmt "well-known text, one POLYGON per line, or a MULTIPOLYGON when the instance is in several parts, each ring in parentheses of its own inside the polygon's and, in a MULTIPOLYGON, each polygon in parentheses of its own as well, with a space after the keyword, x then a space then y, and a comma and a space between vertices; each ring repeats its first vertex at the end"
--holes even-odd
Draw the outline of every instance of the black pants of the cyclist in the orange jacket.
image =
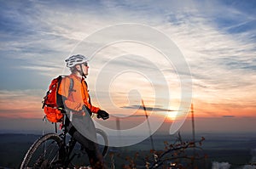
POLYGON ((102 154, 99 152, 98 144, 96 144, 95 126, 91 118, 89 118, 90 115, 82 118, 73 116, 72 121, 67 118, 67 132, 84 147, 92 168, 106 168, 102 154))

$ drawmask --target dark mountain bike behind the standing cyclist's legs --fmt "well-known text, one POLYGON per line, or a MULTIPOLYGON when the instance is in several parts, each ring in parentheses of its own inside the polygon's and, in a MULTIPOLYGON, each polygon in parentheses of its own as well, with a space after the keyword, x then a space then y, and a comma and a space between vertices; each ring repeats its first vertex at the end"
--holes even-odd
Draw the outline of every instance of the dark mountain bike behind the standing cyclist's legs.
MULTIPOLYGON (((99 128, 96 128, 96 136, 97 140, 100 138, 104 142, 102 145, 98 145, 102 156, 105 157, 108 154, 108 136, 99 128)), ((85 150, 73 137, 67 135, 67 127, 63 124, 61 134, 44 134, 32 144, 20 165, 20 169, 77 168, 84 165, 83 155, 86 155, 85 150)))

